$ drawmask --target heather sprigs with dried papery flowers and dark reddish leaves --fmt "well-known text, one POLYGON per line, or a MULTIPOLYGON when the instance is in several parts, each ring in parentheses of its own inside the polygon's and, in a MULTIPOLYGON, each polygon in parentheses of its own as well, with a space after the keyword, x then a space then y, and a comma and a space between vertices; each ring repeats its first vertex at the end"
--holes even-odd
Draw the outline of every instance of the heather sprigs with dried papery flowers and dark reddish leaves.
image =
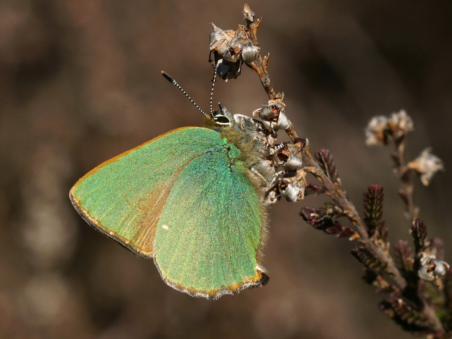
POLYGON ((418 174, 421 182, 428 185, 443 162, 426 148, 419 157, 406 163, 406 135, 414 130, 414 123, 401 110, 388 118, 377 116, 366 128, 367 145, 386 145, 392 142, 395 152, 392 158, 394 172, 402 187, 398 193, 405 202, 407 217, 412 221, 411 235, 414 253, 407 241, 399 240, 394 246, 394 259, 390 245, 386 242, 388 229, 383 218, 383 188, 372 184, 364 193, 362 219, 357 208, 348 200, 342 188, 338 171, 330 151, 322 149, 311 155, 308 139, 298 137, 287 118, 284 94, 275 93, 268 75, 269 54, 260 55, 257 29, 262 18, 254 20, 254 12, 244 7, 246 26, 239 25, 237 31, 222 30, 212 24, 210 49, 218 75, 225 81, 240 75, 242 64, 258 75, 268 94, 268 104, 253 112, 259 138, 268 145, 268 164, 276 172, 274 182, 266 188, 266 202, 275 203, 282 196, 287 201, 297 202, 311 194, 325 194, 332 199, 325 207, 303 207, 301 217, 315 229, 338 238, 347 237, 356 243, 352 254, 364 265, 363 279, 377 288, 377 292, 389 294, 381 301, 380 310, 404 330, 424 334, 428 338, 446 338, 452 334, 452 278, 449 265, 443 261, 442 241, 427 240, 427 227, 419 220, 419 208, 414 203, 414 184, 411 174, 418 174), (277 131, 283 129, 292 142, 275 144, 277 131), (304 167, 303 167, 304 165, 304 167), (310 173, 321 185, 308 183, 310 173), (353 225, 344 226, 340 218, 353 225), (443 278, 446 280, 443 282, 443 278), (389 280, 388 280, 389 279, 389 280))

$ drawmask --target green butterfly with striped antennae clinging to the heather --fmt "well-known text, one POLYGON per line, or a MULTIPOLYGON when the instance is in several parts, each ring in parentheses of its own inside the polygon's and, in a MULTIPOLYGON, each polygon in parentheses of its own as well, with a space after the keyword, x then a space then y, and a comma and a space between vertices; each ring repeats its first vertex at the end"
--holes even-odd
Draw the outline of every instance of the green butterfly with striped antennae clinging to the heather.
POLYGON ((275 171, 254 119, 221 104, 213 111, 212 95, 205 115, 204 127, 175 129, 105 161, 69 195, 91 226, 153 259, 166 284, 215 300, 268 282, 263 187, 275 171))

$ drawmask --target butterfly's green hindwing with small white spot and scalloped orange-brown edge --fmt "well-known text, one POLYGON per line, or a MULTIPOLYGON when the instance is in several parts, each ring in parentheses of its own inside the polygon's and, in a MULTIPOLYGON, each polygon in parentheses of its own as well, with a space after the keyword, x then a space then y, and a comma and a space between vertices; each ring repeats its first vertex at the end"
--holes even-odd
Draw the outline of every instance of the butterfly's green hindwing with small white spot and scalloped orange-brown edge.
POLYGON ((263 211, 233 145, 203 154, 179 174, 157 223, 155 264, 170 286, 217 299, 260 286, 263 211))

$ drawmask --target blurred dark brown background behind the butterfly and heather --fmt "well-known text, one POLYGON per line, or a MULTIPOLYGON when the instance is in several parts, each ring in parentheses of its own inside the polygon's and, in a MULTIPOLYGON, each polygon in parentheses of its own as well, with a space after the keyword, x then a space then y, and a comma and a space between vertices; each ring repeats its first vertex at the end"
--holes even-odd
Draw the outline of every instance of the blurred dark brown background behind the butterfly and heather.
MULTIPOLYGON (((446 172, 417 201, 430 236, 452 242, 452 2, 288 0, 263 16, 270 77, 311 148, 330 148, 350 198, 377 181, 390 240, 409 239, 389 148, 366 148, 376 114, 414 118, 446 172), (449 170, 449 171, 448 171, 449 170)), ((300 203, 272 207, 264 288, 215 302, 167 287, 154 264, 85 224, 68 191, 104 160, 208 109, 210 22, 236 29, 241 1, 0 1, 0 338, 410 338, 377 310, 350 243, 307 226, 300 203)), ((219 81, 214 100, 248 114, 257 75, 219 81)), ((283 133, 280 133, 283 134, 283 133)), ((321 198, 303 202, 320 206, 321 198)), ((452 251, 446 246, 446 259, 452 251)))

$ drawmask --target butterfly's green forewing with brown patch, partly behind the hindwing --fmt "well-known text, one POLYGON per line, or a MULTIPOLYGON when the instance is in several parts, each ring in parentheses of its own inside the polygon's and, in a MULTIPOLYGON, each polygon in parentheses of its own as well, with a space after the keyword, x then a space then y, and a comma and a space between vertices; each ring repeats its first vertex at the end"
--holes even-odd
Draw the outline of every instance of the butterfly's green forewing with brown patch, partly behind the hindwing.
POLYGON ((71 188, 71 202, 99 231, 152 258, 155 227, 179 174, 221 143, 207 128, 170 131, 91 170, 71 188))

